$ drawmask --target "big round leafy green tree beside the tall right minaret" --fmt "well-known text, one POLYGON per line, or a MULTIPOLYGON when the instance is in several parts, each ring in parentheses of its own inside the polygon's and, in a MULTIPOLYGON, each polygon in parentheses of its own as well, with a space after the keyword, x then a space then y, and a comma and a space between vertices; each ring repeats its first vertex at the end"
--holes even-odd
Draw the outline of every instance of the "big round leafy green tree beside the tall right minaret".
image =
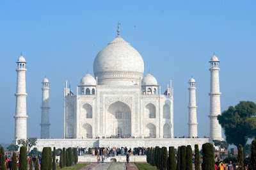
POLYGON ((229 144, 245 146, 248 139, 256 136, 256 104, 241 101, 235 107, 228 107, 218 116, 218 121, 224 129, 229 144))

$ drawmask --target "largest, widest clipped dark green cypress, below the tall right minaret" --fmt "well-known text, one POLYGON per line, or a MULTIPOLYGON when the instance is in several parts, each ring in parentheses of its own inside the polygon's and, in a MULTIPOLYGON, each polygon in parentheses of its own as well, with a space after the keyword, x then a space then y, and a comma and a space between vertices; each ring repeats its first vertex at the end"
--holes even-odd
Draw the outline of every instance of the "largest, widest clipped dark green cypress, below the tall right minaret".
POLYGON ((205 143, 203 148, 202 170, 214 170, 214 148, 211 143, 205 143))

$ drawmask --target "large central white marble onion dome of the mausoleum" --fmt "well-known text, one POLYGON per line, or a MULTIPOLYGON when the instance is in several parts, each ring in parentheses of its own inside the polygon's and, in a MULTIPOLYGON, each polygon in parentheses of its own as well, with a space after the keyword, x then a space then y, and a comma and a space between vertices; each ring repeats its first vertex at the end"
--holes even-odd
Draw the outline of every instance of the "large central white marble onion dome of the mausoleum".
POLYGON ((97 54, 93 72, 99 85, 134 85, 143 77, 144 62, 140 53, 118 35, 97 54))

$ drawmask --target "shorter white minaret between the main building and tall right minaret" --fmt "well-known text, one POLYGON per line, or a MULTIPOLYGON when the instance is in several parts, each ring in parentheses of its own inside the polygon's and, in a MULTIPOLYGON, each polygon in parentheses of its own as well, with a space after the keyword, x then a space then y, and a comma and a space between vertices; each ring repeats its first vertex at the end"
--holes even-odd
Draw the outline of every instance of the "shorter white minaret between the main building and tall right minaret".
POLYGON ((189 137, 197 137, 197 118, 196 118, 196 82, 193 77, 189 80, 189 121, 188 121, 188 129, 189 129, 189 137))

